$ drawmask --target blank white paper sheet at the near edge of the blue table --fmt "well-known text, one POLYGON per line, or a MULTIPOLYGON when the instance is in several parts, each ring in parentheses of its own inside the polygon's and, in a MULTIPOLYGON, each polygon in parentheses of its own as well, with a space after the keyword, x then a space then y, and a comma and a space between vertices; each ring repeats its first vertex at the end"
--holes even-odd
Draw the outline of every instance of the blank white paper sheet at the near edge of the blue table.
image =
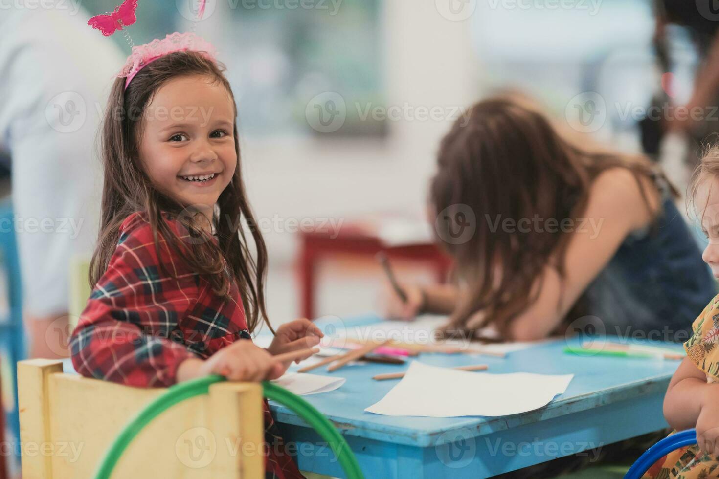
POLYGON ((518 414, 549 404, 573 377, 457 371, 412 361, 397 386, 365 411, 423 417, 518 414))

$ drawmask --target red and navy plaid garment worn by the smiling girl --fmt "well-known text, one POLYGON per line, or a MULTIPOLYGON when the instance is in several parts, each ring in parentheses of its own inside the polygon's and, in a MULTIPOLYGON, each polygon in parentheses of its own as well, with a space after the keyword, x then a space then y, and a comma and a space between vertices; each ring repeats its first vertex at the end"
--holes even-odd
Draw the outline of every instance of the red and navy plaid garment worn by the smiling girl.
MULTIPOLYGON (((183 236, 175 221, 164 218, 183 236)), ((235 340, 252 339, 237 284, 231 301, 213 294, 209 282, 160 236, 158 258, 152 228, 141 213, 129 215, 119 231, 107 271, 70 338, 78 373, 127 386, 167 387, 177 382, 178 366, 187 358, 206 359, 235 340), (177 279, 163 275, 160 264, 177 279)), ((267 478, 303 478, 266 399, 264 405, 267 478)))

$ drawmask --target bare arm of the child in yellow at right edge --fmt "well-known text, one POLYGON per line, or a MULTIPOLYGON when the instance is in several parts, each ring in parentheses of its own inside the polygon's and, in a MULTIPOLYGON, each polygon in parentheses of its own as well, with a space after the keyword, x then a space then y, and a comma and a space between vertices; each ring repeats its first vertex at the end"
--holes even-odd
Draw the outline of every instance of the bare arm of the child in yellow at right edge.
POLYGON ((719 383, 707 383, 705 373, 684 358, 664 396, 664 419, 677 431, 690 429, 697 425, 702 407, 709 401, 719 404, 719 383))

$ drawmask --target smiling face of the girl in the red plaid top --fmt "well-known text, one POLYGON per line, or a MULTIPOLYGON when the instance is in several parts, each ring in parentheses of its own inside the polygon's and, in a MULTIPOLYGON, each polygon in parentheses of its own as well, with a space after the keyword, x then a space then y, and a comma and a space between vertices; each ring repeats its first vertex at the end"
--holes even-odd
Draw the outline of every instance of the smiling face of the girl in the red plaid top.
POLYGON ((202 75, 162 85, 142 118, 140 160, 157 189, 212 218, 237 166, 234 104, 219 82, 202 75))

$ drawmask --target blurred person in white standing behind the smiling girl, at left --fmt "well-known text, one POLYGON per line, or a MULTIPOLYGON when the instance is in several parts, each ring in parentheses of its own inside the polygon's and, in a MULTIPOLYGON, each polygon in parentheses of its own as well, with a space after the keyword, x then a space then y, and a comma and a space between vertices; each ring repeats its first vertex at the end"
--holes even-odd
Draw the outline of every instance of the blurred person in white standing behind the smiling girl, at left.
POLYGON ((98 127, 124 55, 79 0, 0 0, 0 157, 9 158, 31 358, 68 355, 68 269, 90 255, 98 127))

